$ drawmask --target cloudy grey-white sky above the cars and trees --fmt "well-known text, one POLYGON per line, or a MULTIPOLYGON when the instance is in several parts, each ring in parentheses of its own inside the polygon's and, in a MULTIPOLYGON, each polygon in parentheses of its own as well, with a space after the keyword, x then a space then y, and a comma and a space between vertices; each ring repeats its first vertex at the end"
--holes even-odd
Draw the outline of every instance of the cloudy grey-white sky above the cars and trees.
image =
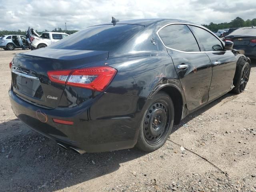
POLYGON ((256 18, 255 0, 0 0, 0 30, 82 30, 111 21, 174 18, 209 24, 256 18))

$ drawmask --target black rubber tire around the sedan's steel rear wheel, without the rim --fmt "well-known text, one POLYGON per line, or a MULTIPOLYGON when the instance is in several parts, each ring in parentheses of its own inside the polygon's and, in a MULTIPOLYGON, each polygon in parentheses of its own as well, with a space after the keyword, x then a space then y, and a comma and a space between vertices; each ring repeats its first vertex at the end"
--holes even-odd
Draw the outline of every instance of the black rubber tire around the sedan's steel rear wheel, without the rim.
POLYGON ((174 122, 174 105, 172 102, 172 99, 170 98, 170 96, 168 96, 168 94, 166 94, 165 92, 158 92, 152 99, 150 99, 150 102, 148 102, 148 104, 146 105, 146 110, 144 111, 144 115, 142 117, 142 121, 140 123, 140 130, 139 130, 139 135, 138 135, 138 140, 137 140, 137 144, 136 146, 146 152, 152 152, 154 150, 157 150, 158 148, 160 148, 161 146, 164 145, 164 143, 166 142, 167 138, 169 137, 171 131, 172 131, 172 127, 173 127, 173 122, 174 122), (166 132, 166 135, 164 136, 164 138, 162 138, 162 140, 156 144, 156 145, 150 145, 145 137, 144 137, 144 132, 143 132, 143 128, 144 128, 144 118, 146 117, 146 114, 148 112, 148 108, 157 100, 164 100, 164 102, 166 102, 169 105, 170 108, 170 124, 169 124, 169 128, 168 131, 166 132))

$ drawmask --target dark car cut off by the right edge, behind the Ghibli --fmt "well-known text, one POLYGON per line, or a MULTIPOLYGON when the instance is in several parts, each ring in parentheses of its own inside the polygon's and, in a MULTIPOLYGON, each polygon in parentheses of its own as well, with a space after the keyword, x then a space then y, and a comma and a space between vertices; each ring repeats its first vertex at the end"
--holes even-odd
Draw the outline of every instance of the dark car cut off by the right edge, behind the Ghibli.
POLYGON ((247 57, 256 58, 256 27, 239 28, 226 36, 224 41, 232 41, 234 49, 244 50, 247 57))

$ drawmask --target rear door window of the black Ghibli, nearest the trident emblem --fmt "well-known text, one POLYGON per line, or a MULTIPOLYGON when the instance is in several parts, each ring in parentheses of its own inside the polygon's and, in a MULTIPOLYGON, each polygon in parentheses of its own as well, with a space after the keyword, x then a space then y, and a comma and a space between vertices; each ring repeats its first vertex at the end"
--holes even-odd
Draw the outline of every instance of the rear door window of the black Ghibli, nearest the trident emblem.
POLYGON ((168 48, 186 52, 200 51, 194 35, 186 25, 168 25, 162 28, 158 34, 168 48))

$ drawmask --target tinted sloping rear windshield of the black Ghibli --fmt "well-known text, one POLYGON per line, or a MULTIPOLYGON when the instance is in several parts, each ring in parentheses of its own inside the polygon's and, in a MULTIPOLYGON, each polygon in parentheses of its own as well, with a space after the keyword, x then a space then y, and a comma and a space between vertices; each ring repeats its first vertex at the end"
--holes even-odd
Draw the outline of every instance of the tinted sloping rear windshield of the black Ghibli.
POLYGON ((52 49, 109 51, 120 46, 143 27, 134 24, 92 26, 48 47, 52 49))

